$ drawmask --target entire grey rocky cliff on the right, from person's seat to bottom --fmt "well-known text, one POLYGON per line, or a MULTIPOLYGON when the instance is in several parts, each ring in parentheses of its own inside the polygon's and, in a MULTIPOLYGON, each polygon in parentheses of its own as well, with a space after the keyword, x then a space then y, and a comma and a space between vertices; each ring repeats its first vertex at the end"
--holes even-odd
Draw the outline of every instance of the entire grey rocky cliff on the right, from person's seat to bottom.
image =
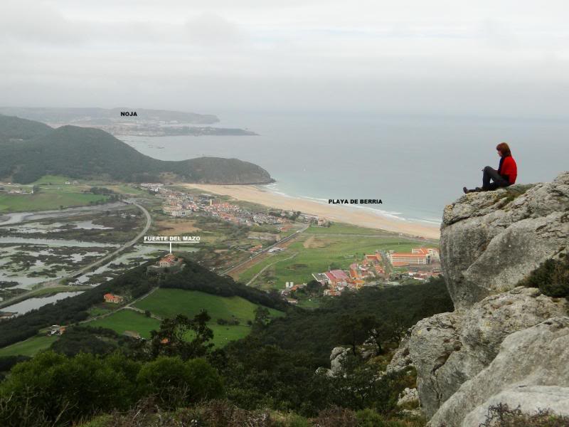
POLYGON ((418 322, 399 350, 417 369, 430 426, 479 426, 498 404, 569 415, 568 301, 526 287, 568 246, 569 172, 445 208, 441 262, 455 310, 418 322))

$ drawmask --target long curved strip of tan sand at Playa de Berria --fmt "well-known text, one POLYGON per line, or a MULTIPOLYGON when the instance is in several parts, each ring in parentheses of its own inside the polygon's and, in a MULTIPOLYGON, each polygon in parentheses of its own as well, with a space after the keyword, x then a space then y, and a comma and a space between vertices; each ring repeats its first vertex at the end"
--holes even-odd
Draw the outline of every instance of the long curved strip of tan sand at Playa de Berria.
POLYGON ((252 185, 211 185, 211 184, 181 184, 193 189, 200 189, 208 193, 223 194, 233 199, 262 204, 271 208, 301 211, 303 214, 317 215, 330 221, 349 223, 367 228, 378 228, 395 233, 404 233, 410 236, 425 238, 440 238, 437 226, 389 218, 375 214, 368 209, 350 208, 349 205, 322 204, 317 201, 297 199, 282 196, 264 189, 262 186, 252 185))

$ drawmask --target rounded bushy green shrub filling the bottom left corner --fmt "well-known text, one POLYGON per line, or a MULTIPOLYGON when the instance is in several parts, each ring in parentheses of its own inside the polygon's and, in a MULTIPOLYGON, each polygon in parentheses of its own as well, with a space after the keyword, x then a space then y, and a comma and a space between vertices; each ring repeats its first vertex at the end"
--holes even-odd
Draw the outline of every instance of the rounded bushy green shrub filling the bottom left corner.
POLYGON ((101 408, 127 408, 129 379, 105 359, 79 354, 68 359, 42 352, 17 364, 0 387, 0 419, 9 426, 65 424, 101 408), (34 418, 37 418, 34 421, 34 418))

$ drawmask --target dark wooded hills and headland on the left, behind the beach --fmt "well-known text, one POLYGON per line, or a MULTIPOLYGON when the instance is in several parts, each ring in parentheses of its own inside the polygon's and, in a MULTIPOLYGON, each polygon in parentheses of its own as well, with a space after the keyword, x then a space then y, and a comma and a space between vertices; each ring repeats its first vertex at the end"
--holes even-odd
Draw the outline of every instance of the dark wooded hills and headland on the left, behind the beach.
POLYGON ((272 182, 265 169, 238 159, 201 157, 163 161, 137 152, 102 130, 75 126, 53 130, 31 120, 0 117, 0 179, 21 184, 43 175, 127 182, 272 182), (15 139, 23 141, 14 142, 15 139))

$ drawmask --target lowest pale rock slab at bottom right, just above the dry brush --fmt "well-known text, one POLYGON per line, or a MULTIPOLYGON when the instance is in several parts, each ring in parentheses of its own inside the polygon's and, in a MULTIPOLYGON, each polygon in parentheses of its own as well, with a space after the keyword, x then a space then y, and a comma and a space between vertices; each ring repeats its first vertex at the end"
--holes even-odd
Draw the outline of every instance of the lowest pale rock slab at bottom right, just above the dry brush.
POLYGON ((500 404, 507 405, 510 409, 520 408, 523 413, 529 415, 548 410, 555 415, 569 416, 569 387, 511 387, 474 408, 462 421, 462 427, 479 427, 486 422, 489 408, 500 404))

